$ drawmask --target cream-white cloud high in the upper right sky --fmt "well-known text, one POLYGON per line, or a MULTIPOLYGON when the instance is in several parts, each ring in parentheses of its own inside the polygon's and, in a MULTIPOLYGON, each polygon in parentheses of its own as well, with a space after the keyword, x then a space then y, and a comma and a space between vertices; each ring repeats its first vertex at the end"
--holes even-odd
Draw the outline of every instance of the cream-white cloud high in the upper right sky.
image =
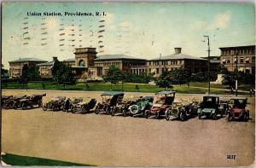
POLYGON ((230 11, 217 14, 215 17, 212 28, 226 28, 230 24, 232 13, 230 11))

